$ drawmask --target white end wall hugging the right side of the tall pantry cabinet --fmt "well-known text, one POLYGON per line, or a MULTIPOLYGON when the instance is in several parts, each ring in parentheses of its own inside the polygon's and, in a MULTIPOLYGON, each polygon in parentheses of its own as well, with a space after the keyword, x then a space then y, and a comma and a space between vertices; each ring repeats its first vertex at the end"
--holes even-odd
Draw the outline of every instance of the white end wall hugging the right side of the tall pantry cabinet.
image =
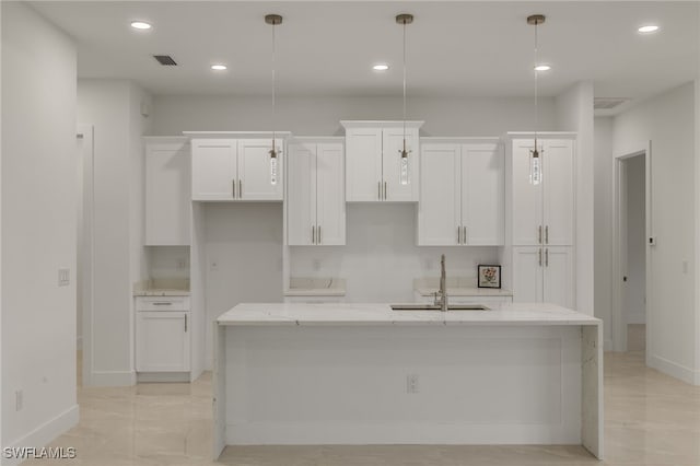
POLYGON ((557 97, 557 125, 576 137, 576 311, 593 315, 594 303, 594 137, 593 83, 580 82, 557 97))

